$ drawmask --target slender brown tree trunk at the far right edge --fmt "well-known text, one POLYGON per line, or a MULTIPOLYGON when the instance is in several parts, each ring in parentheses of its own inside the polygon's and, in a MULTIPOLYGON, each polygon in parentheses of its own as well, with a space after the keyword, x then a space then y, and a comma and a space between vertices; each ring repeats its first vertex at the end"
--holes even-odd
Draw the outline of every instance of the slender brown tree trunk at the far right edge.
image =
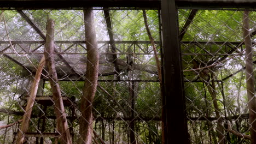
POLYGON ((246 48, 246 88, 249 108, 249 123, 251 132, 251 144, 256 143, 256 99, 254 89, 254 75, 253 75, 253 49, 252 41, 249 32, 249 11, 245 11, 243 14, 243 37, 245 38, 246 48))

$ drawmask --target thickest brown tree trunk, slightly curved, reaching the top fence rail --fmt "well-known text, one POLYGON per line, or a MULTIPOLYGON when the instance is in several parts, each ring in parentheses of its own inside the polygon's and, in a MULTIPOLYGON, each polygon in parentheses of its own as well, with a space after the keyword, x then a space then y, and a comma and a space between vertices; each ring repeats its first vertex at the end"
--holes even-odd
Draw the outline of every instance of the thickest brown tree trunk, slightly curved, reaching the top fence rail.
POLYGON ((87 48, 86 73, 83 89, 83 96, 81 98, 79 144, 92 142, 92 101, 95 97, 98 80, 98 48, 94 25, 94 14, 92 8, 84 9, 84 23, 85 23, 85 41, 87 48))

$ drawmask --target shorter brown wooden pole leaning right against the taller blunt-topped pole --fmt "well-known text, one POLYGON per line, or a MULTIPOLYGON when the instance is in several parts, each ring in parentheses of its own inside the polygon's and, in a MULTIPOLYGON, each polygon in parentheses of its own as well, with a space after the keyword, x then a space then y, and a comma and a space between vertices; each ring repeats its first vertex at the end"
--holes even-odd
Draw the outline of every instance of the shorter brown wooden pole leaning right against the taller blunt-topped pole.
POLYGON ((42 74, 44 64, 45 64, 45 58, 43 56, 41 61, 39 62, 39 66, 37 68, 36 75, 34 76, 34 81, 33 81, 33 85, 31 87, 31 92, 30 92, 30 99, 28 100, 28 103, 26 106, 26 112, 23 116, 21 128, 19 130, 19 134, 18 134, 18 138, 17 138, 17 142, 16 142, 18 144, 24 143, 24 140, 25 140, 25 133, 29 127, 31 112, 32 112, 32 108, 34 105, 34 99, 36 99, 37 89, 38 89, 40 76, 42 74))

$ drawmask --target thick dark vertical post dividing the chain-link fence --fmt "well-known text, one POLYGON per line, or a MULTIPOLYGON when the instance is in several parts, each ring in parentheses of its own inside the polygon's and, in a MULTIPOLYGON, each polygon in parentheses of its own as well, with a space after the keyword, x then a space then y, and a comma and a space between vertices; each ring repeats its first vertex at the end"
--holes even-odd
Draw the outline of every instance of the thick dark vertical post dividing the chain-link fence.
POLYGON ((174 0, 161 0, 163 98, 162 143, 189 143, 185 118, 183 73, 178 37, 178 16, 174 0))

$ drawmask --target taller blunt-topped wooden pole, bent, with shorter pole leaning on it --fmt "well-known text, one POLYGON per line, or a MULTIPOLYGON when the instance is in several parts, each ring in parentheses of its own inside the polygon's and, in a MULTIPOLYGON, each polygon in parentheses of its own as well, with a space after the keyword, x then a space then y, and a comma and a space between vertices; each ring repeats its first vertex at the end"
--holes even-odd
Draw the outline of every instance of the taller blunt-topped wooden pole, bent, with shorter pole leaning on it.
POLYGON ((61 143, 72 143, 69 134, 66 113, 62 101, 60 86, 54 64, 54 21, 49 19, 47 22, 46 43, 44 51, 46 65, 48 67, 51 91, 53 91, 54 112, 56 114, 57 131, 61 134, 61 143))

